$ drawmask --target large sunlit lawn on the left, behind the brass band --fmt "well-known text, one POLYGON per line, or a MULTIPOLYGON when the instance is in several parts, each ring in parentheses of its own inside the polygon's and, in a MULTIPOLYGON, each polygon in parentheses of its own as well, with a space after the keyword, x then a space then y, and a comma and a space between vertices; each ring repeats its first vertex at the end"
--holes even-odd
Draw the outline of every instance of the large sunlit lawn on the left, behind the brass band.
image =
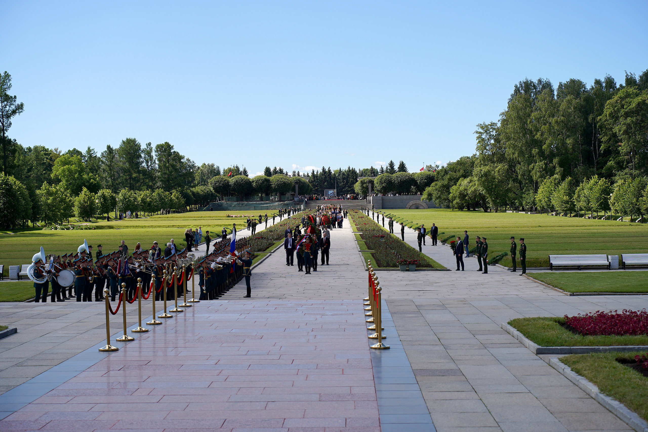
MULTIPOLYGON (((124 240, 130 251, 135 249, 135 244, 140 242, 143 249, 152 246, 157 241, 160 247, 173 238, 179 245, 185 244, 185 229, 196 229, 202 226, 203 236, 205 231, 211 232, 211 237, 220 236, 223 227, 231 228, 233 223, 238 229, 246 227, 246 218, 227 218, 227 214, 254 214, 250 211, 227 212, 187 212, 168 214, 164 216, 151 216, 150 218, 129 219, 120 221, 93 222, 94 230, 72 231, 43 231, 42 229, 27 229, 14 234, 0 235, 0 264, 5 264, 5 276, 9 274, 9 266, 29 264, 32 256, 45 248, 45 253, 56 255, 75 252, 84 239, 93 245, 93 254, 97 252, 97 244, 102 244, 104 253, 117 250, 124 240), (216 234, 216 235, 214 235, 216 234)), ((264 213, 265 214, 265 213, 264 213)), ((255 214, 257 217, 259 213, 255 214)), ((268 214, 270 216, 270 214, 268 214)), ((72 220, 71 220, 72 222, 72 220)), ((277 218, 276 222, 279 222, 277 218)), ((261 231, 264 224, 259 225, 261 231)), ((248 231, 244 231, 247 234, 248 231)))

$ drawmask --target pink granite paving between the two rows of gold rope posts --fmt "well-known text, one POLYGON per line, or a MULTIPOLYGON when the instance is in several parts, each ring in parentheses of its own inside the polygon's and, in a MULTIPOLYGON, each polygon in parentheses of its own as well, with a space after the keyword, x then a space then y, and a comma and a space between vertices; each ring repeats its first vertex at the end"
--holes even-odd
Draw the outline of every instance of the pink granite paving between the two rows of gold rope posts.
POLYGON ((201 302, 0 430, 379 432, 360 301, 201 302))

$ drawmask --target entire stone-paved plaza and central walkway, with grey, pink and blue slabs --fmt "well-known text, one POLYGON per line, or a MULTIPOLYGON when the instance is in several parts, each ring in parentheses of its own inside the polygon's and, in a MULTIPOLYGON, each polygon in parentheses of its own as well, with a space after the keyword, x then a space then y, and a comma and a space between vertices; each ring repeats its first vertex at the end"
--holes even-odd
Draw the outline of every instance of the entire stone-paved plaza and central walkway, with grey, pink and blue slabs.
MULTIPOLYGON (((500 324, 646 308, 645 297, 568 297, 478 273, 472 258, 463 272, 377 271, 391 349, 370 350, 367 273, 346 221, 331 243, 330 266, 304 275, 279 249, 253 270, 252 299, 241 282, 110 354, 97 352, 103 303, 0 304, 19 331, 0 339, 0 431, 631 430, 500 324)), ((454 269, 448 247, 424 253, 454 269)), ((143 310, 148 321, 150 301, 143 310)))

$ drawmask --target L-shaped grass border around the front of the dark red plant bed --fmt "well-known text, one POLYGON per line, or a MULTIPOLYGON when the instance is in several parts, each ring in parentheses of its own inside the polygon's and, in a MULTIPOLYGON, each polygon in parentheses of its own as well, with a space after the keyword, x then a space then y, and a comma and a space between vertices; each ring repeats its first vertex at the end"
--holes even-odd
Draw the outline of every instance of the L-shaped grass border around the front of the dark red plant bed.
POLYGON ((648 335, 587 335, 570 332, 561 326, 561 317, 516 318, 509 321, 527 339, 540 347, 619 347, 648 345, 648 335))

